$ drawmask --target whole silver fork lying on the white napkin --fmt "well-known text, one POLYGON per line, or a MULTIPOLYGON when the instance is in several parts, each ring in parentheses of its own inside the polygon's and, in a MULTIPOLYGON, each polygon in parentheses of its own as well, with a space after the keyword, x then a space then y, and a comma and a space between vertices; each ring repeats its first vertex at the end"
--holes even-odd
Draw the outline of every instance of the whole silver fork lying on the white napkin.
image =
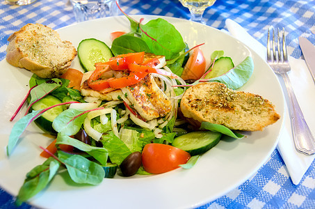
POLYGON ((291 70, 286 51, 286 40, 284 36, 284 29, 282 29, 282 46, 280 43, 280 32, 277 30, 277 41, 275 41, 275 30, 273 30, 273 40, 270 40, 270 31, 268 29, 267 40, 267 62, 273 71, 282 75, 286 91, 289 96, 289 113, 291 118, 291 127, 294 144, 296 150, 306 155, 313 155, 315 153, 315 139, 312 132, 309 130, 304 116, 296 100, 296 95, 293 92, 291 82, 287 72, 291 70))

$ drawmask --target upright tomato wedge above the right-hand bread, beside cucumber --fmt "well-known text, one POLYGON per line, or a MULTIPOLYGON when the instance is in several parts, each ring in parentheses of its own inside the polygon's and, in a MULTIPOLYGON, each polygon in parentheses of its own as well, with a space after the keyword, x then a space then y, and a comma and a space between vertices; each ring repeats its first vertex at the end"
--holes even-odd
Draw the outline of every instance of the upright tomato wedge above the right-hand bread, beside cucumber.
POLYGON ((193 54, 189 57, 181 78, 187 79, 200 79, 206 70, 206 59, 200 47, 193 49, 193 54))

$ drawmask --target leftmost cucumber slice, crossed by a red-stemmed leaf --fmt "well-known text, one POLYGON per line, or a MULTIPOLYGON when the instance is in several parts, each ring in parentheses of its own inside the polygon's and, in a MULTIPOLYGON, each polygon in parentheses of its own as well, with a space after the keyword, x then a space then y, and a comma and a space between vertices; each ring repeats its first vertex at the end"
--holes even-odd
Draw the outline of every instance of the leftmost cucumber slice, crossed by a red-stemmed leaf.
MULTIPOLYGON (((51 107, 55 104, 60 103, 62 102, 58 98, 55 98, 52 95, 47 95, 45 96, 45 98, 42 98, 38 102, 35 102, 30 108, 30 111, 45 109, 47 107, 51 107)), ((63 112, 63 106, 51 108, 45 111, 45 113, 42 114, 42 116, 40 116, 39 118, 37 118, 34 122, 44 132, 47 132, 49 134, 56 134, 57 132, 52 127, 52 123, 56 116, 58 116, 61 112, 63 112)))

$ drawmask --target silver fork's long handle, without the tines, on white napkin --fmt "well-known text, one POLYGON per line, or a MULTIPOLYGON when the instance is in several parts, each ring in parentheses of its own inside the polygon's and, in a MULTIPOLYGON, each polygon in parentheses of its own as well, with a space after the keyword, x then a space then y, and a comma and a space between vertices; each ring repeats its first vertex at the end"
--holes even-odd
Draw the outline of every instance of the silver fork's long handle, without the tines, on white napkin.
POLYGON ((294 144, 296 145, 296 149, 301 153, 313 155, 315 153, 315 139, 305 122, 300 106, 298 105, 298 100, 296 100, 296 95, 293 92, 289 76, 286 73, 282 73, 281 75, 289 95, 289 114, 294 144))

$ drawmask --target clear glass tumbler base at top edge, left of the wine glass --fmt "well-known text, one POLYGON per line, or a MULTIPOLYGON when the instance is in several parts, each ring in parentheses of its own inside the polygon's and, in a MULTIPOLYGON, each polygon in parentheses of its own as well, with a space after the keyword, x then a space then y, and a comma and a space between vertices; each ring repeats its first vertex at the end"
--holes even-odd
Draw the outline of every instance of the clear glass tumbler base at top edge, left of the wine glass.
POLYGON ((118 15, 115 0, 71 0, 76 22, 118 15))

